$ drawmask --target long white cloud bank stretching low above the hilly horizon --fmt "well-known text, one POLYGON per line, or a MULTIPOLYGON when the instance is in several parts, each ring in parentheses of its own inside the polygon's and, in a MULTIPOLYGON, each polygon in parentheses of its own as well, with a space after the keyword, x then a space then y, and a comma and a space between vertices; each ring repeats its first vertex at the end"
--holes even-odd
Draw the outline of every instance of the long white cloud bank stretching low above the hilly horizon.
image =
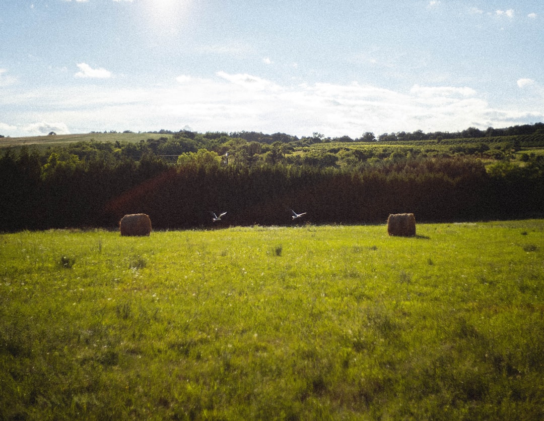
POLYGON ((25 136, 67 133, 68 127, 86 133, 178 130, 188 125, 200 132, 255 130, 307 136, 318 131, 355 138, 365 131, 456 131, 544 119, 539 96, 528 97, 523 107, 510 104, 499 109, 470 87, 414 85, 399 91, 357 82, 280 85, 225 71, 207 78, 180 75, 172 82, 138 89, 78 85, 0 96, 2 118, 12 123, 0 128, 4 127, 3 135, 25 136), (29 111, 21 113, 25 108, 29 111), (55 121, 63 123, 51 123, 55 121))

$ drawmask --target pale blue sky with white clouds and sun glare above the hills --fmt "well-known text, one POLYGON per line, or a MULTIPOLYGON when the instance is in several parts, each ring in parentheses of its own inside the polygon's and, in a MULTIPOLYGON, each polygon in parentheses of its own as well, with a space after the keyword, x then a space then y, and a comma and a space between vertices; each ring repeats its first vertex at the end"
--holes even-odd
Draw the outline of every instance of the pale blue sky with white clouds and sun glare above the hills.
POLYGON ((542 121, 542 0, 0 0, 3 136, 542 121))

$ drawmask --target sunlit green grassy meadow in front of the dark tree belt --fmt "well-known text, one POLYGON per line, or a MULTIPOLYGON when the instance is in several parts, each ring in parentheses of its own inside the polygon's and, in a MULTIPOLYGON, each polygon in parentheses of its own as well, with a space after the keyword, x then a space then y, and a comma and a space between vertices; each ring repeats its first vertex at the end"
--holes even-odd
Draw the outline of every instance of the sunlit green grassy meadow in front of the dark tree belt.
POLYGON ((544 220, 0 235, 0 419, 544 417, 544 220))

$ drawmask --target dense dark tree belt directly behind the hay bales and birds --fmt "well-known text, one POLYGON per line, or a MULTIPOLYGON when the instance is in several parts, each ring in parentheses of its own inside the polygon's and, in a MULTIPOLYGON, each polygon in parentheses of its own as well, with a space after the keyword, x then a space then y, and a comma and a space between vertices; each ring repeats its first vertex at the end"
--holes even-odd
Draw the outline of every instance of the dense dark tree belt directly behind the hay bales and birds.
POLYGON ((291 208, 318 224, 384 222, 397 212, 445 222, 544 211, 541 156, 486 170, 475 157, 489 151, 481 145, 475 156, 394 147, 296 154, 293 142, 280 138, 177 132, 139 143, 7 150, 0 157, 0 230, 113 228, 137 212, 148 213, 155 229, 174 229, 212 226, 211 211, 228 212, 219 226, 289 224, 291 208))

